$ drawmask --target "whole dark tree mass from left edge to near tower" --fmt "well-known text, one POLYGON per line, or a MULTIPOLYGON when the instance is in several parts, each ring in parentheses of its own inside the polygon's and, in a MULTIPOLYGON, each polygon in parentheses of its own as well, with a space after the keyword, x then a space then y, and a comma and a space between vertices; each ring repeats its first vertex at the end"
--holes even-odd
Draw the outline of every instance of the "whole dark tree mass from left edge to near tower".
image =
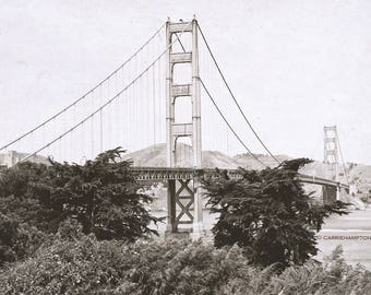
POLYGON ((85 234, 99 239, 125 239, 156 234, 148 225, 157 219, 145 210, 152 199, 139 193, 130 162, 120 149, 99 154, 84 165, 50 166, 20 163, 0 177, 0 213, 19 223, 56 233, 68 217, 76 219, 85 234))

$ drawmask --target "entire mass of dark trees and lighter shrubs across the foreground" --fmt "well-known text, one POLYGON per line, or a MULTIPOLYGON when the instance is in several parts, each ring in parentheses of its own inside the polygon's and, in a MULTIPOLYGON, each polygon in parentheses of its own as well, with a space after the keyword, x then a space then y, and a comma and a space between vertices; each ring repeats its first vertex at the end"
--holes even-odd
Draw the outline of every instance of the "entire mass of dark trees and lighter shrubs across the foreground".
POLYGON ((344 204, 311 201, 297 180, 306 161, 205 179, 220 213, 214 246, 151 238, 151 198, 121 153, 1 172, 0 294, 371 293, 371 273, 347 266, 340 249, 325 263, 309 259, 313 229, 344 204))

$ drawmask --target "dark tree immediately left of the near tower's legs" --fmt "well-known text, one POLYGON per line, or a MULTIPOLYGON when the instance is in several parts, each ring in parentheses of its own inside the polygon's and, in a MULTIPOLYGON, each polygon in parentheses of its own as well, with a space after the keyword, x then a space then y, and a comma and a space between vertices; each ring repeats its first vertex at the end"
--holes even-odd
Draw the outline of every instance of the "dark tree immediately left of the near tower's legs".
POLYGON ((131 163, 121 161, 123 152, 109 150, 84 165, 50 160, 46 174, 28 184, 31 198, 40 204, 44 229, 55 233, 61 221, 73 217, 85 234, 99 239, 133 241, 157 234, 148 227, 157 219, 144 208, 151 198, 137 193, 131 163))

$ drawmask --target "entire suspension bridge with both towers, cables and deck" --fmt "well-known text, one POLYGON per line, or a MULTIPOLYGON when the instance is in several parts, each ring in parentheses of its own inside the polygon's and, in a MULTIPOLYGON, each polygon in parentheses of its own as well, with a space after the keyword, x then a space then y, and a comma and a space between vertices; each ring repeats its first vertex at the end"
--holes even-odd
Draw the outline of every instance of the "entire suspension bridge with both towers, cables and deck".
MULTIPOLYGON (((168 182, 168 232, 200 234, 203 205, 198 178, 205 170, 212 173, 204 167, 202 151, 234 154, 239 145, 261 168, 266 167, 237 126, 246 126, 243 130, 280 164, 242 110, 198 21, 167 21, 96 86, 0 146, 0 153, 24 153, 10 165, 40 156, 83 164, 116 146, 134 152, 166 142, 164 167, 134 165, 133 173, 139 180, 168 182), (205 125, 213 126, 213 132, 205 131, 205 125)), ((336 128, 325 128, 324 133, 326 177, 299 177, 302 182, 323 186, 326 198, 336 199, 334 194, 342 189, 349 190, 349 182, 337 177, 336 128)), ((240 177, 236 169, 228 174, 240 177)))

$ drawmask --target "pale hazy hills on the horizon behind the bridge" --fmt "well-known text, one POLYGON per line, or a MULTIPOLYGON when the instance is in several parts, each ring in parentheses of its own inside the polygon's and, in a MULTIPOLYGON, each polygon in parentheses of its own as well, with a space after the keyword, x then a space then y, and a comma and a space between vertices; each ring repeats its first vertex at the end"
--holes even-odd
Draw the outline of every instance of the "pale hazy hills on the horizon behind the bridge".
MULTIPOLYGON (((181 167, 191 167, 191 146, 185 144, 180 144, 178 148, 179 161, 178 165, 181 167)), ((266 166, 275 167, 277 163, 268 155, 265 154, 254 154, 262 163, 266 166)), ((276 157, 282 162, 285 160, 290 160, 292 157, 288 155, 276 155, 276 157)), ((147 167, 165 167, 166 166, 166 144, 159 143, 143 150, 125 154, 124 160, 133 161, 134 166, 147 166, 147 167)), ((261 169, 263 166, 256 162, 249 154, 238 154, 236 156, 228 156, 218 151, 203 151, 202 153, 202 166, 205 168, 225 168, 235 169, 238 167, 243 167, 248 169, 261 169)), ((371 166, 346 163, 346 169, 349 175, 349 182, 356 184, 357 189, 362 194, 367 194, 371 190, 371 166)), ((301 169, 302 174, 313 175, 318 177, 324 177, 324 164, 319 161, 314 161, 311 164, 306 165, 301 169)), ((343 175, 343 169, 340 169, 340 181, 347 182, 345 176, 343 175)))

